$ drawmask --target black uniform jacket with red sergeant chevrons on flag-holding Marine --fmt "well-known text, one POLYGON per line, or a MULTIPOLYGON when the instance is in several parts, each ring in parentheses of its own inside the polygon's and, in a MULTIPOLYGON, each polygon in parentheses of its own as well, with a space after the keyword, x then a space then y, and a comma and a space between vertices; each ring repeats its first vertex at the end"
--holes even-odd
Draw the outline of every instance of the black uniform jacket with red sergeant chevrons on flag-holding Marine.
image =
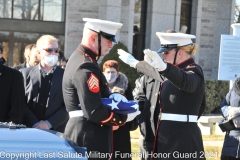
POLYGON ((88 152, 111 152, 112 126, 123 125, 127 116, 115 114, 103 105, 101 98, 109 97, 107 81, 96 63, 96 53, 83 45, 67 63, 63 96, 68 112, 81 109, 84 114, 69 119, 65 134, 79 146, 87 147, 88 152))

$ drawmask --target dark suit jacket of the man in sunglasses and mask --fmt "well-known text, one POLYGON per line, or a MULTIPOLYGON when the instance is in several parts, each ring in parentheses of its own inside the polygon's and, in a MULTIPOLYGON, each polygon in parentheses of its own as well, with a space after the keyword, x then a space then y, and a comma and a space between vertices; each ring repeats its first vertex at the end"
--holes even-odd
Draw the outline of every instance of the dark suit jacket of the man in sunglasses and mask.
POLYGON ((52 84, 49 92, 49 98, 47 100, 45 115, 42 116, 45 117, 45 119, 38 119, 33 113, 38 102, 38 91, 41 83, 39 65, 24 68, 20 71, 24 77, 25 94, 28 106, 24 116, 24 123, 28 127, 32 127, 40 120, 48 120, 54 130, 64 132, 65 125, 69 118, 62 93, 62 78, 64 70, 57 66, 53 72, 52 84))

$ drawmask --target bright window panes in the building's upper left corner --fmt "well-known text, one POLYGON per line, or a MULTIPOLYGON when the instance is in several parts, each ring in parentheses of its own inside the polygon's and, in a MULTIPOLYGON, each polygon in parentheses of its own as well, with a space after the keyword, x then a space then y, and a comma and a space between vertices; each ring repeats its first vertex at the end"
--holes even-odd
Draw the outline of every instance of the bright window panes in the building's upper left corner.
POLYGON ((1 0, 0 18, 65 21, 65 0, 1 0))

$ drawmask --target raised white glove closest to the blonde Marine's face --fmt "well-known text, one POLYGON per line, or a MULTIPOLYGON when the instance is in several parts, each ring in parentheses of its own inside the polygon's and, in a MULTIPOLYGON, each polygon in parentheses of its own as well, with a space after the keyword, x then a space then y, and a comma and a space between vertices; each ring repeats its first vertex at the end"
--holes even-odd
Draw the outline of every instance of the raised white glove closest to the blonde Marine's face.
POLYGON ((157 54, 157 52, 151 51, 150 49, 145 49, 143 53, 146 56, 146 58, 144 56, 144 60, 146 59, 146 61, 158 71, 164 71, 167 68, 167 64, 163 62, 162 58, 157 54))

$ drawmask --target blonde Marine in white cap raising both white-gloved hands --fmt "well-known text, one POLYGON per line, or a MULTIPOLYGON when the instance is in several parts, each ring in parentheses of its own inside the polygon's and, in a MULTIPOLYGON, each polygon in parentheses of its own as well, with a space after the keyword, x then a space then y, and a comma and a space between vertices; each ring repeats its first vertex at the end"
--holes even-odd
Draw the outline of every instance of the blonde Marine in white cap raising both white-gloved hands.
POLYGON ((202 114, 200 108, 205 84, 203 71, 192 58, 198 48, 191 40, 195 36, 156 34, 161 42, 158 52, 162 53, 162 58, 154 51, 145 50, 147 62, 139 62, 131 54, 118 50, 123 62, 161 82, 159 123, 154 144, 154 152, 160 154, 154 158, 176 159, 181 158, 182 153, 196 153, 188 159, 206 159, 197 125, 197 119, 202 114))

